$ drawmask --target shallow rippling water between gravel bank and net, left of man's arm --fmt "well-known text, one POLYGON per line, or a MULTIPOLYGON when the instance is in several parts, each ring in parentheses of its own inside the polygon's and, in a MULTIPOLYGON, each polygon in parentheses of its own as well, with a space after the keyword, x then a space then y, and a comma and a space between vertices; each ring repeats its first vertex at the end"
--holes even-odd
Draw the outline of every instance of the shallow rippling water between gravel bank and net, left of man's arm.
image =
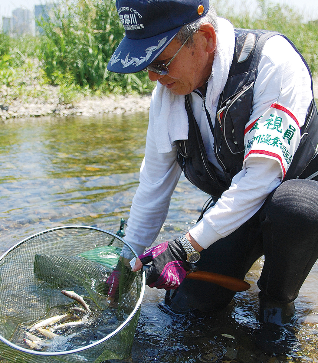
POLYGON ((48 227, 105 228, 117 215, 126 217, 143 158, 145 116, 2 125, 1 252, 48 227))

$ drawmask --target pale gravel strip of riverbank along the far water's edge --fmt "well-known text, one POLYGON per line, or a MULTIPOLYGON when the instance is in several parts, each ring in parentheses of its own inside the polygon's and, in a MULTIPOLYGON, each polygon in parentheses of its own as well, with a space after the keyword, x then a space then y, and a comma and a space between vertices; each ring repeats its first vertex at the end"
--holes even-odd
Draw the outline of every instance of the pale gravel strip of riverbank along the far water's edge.
MULTIPOLYGON (((3 104, 0 104, 0 119, 7 120, 21 117, 40 117, 47 115, 77 115, 89 117, 105 113, 125 113, 147 111, 150 107, 151 96, 134 95, 80 95, 74 101, 61 102, 59 86, 48 84, 39 86, 34 82, 26 85, 26 94, 16 97, 11 87, 2 86, 0 93, 3 104), (32 97, 30 88, 36 90, 32 97)), ((314 94, 318 97, 318 76, 314 78, 314 94)), ((1 102, 0 102, 1 103, 1 102)))

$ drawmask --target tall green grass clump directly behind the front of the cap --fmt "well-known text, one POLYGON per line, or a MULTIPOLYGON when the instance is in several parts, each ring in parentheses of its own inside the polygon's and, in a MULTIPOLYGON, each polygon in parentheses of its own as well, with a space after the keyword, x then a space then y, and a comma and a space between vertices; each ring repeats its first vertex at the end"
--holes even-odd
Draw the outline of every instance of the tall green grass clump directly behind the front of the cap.
POLYGON ((63 79, 93 90, 127 93, 151 90, 145 74, 108 72, 107 63, 124 36, 113 0, 65 0, 43 21, 39 54, 53 84, 63 79))

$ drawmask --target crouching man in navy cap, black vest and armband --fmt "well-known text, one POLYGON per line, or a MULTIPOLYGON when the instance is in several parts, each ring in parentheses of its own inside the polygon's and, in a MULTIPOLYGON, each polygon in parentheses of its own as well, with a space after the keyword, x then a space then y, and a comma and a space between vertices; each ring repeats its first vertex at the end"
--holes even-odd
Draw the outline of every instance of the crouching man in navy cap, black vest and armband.
POLYGON ((318 116, 308 66, 285 37, 233 29, 208 0, 116 6, 126 36, 107 68, 147 69, 157 81, 126 241, 138 254, 155 241, 182 171, 213 198, 185 236, 141 254, 133 271, 152 262, 146 283, 166 289, 174 311, 215 311, 235 293, 183 280, 186 271, 195 264, 242 279, 265 254, 260 321, 289 323, 317 260, 318 116))

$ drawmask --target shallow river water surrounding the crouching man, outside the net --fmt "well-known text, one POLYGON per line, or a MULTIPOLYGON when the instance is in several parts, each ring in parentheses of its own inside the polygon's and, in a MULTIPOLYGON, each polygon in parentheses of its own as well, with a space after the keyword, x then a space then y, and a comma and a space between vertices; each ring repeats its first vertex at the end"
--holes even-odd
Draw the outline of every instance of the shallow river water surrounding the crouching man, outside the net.
MULTIPOLYGON (((121 218, 129 217, 146 130, 147 113, 2 122, 0 255, 34 233, 62 225, 116 233, 121 218)), ((207 199, 182 177, 155 244, 187 231, 207 199)), ((299 344, 277 355, 265 354, 254 342, 262 263, 256 261, 246 275, 248 291, 208 316, 174 315, 164 308, 164 291, 146 287, 125 362, 318 362, 317 262, 295 301, 299 344)))

